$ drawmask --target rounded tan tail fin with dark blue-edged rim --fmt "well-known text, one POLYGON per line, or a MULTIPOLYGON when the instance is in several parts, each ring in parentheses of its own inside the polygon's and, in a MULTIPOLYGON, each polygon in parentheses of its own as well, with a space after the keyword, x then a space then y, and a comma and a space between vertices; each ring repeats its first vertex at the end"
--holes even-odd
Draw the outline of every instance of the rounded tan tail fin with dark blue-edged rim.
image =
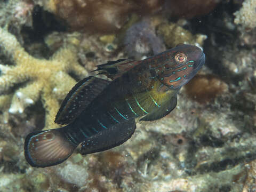
POLYGON ((37 131, 27 135, 24 147, 25 157, 31 166, 57 165, 73 153, 77 146, 66 138, 63 128, 37 131))

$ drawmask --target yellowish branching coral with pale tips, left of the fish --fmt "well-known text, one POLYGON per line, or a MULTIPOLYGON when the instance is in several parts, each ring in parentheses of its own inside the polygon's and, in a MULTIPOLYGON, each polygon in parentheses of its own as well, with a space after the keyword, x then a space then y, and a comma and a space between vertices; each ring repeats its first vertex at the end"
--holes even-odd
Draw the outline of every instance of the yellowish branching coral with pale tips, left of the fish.
POLYGON ((0 65, 0 110, 10 107, 9 113, 23 113, 26 107, 40 99, 46 110, 45 128, 56 127, 53 122, 59 101, 76 83, 68 73, 79 78, 87 75, 77 62, 75 47, 62 47, 50 60, 36 59, 23 49, 15 36, 2 28, 0 45, 15 63, 15 66, 0 65), (13 94, 4 94, 10 93, 9 90, 17 84, 25 86, 19 86, 13 94))

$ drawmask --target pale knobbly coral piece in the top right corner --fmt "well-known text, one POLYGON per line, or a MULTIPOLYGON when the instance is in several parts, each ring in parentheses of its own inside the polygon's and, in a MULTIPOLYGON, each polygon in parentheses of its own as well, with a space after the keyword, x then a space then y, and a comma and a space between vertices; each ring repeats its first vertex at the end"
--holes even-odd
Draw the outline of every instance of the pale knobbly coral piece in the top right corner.
POLYGON ((234 13, 236 24, 241 24, 245 28, 252 29, 256 27, 256 2, 254 0, 246 0, 243 7, 234 13))

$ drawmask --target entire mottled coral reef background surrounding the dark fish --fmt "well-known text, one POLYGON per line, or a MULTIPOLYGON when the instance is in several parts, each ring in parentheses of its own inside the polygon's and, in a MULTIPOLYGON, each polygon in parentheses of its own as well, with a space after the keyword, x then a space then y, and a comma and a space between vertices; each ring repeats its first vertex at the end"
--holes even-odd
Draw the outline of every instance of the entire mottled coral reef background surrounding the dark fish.
POLYGON ((255 0, 0 1, 0 191, 255 191, 255 8, 255 0), (206 62, 169 115, 138 122, 114 149, 28 165, 26 135, 59 127, 61 101, 96 65, 179 43, 202 47, 206 62))

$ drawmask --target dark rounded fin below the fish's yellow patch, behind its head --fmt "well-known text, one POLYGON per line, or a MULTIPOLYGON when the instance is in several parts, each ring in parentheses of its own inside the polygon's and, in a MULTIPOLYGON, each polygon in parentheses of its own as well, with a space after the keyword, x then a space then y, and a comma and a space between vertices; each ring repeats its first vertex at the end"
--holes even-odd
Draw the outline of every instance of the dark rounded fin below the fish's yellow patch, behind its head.
POLYGON ((140 121, 155 121, 161 119, 171 113, 171 111, 177 105, 177 94, 175 94, 169 101, 167 101, 163 106, 159 107, 157 110, 141 118, 140 121))

